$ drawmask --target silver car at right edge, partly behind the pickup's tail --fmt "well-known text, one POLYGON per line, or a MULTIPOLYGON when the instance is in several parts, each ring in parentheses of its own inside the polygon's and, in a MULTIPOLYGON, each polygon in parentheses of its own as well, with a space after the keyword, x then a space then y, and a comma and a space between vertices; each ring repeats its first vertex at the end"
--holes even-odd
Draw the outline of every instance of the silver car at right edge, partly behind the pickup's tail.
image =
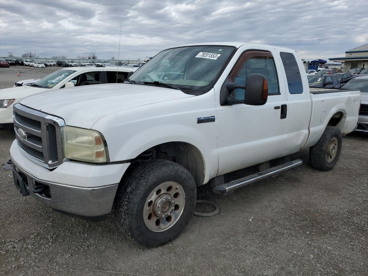
POLYGON ((361 106, 359 110, 358 126, 355 131, 368 133, 368 75, 357 76, 345 84, 343 88, 360 90, 361 106))

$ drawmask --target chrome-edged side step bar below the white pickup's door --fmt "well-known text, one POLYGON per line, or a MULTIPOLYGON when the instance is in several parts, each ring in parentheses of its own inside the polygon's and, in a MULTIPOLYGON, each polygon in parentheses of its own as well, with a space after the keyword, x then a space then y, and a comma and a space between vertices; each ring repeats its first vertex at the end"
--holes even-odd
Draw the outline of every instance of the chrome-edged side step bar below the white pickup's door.
POLYGON ((213 191, 217 194, 229 194, 233 190, 237 188, 244 187, 246 185, 252 184, 256 181, 275 176, 276 174, 282 173, 283 171, 293 169, 297 166, 300 166, 303 163, 301 159, 296 159, 290 162, 286 162, 282 165, 272 167, 270 169, 260 171, 259 173, 251 174, 250 176, 246 176, 243 178, 239 178, 237 180, 230 181, 228 183, 216 186, 213 188, 213 191))

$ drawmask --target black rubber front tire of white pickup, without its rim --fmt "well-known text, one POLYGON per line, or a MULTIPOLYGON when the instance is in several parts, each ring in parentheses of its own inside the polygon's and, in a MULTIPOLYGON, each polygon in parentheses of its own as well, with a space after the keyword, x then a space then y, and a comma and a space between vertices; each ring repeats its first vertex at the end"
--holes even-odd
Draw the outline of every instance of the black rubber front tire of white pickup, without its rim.
POLYGON ((157 159, 135 168, 122 183, 116 196, 114 209, 118 228, 134 243, 155 247, 174 240, 192 217, 197 187, 190 172, 169 160, 157 159), (185 193, 183 212, 169 229, 162 232, 150 230, 143 217, 148 196, 161 183, 174 181, 185 193))

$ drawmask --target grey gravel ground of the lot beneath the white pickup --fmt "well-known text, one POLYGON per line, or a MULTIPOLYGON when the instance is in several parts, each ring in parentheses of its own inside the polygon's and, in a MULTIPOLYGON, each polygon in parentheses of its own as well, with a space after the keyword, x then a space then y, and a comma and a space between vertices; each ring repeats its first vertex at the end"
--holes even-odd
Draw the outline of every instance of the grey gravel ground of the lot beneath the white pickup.
MULTIPOLYGON (((8 69, 17 67, 0 68, 0 88, 17 79, 11 73, 4 80, 8 69)), ((56 68, 33 69, 21 79, 56 68)), ((13 139, 14 132, 0 131, 0 164, 13 139)), ((309 167, 308 150, 293 158, 303 165, 228 196, 200 187, 198 198, 215 202, 220 213, 193 217, 158 248, 121 236, 113 215, 92 224, 22 197, 11 171, 0 168, 0 275, 116 275, 66 265, 145 275, 368 275, 368 136, 344 137, 329 172, 309 167)))

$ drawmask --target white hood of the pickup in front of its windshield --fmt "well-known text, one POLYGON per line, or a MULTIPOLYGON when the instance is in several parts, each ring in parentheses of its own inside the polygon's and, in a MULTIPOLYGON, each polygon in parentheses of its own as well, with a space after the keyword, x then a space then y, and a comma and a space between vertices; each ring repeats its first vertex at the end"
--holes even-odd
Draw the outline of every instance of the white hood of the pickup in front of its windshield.
POLYGON ((22 105, 91 128, 103 116, 142 105, 193 97, 180 90, 138 84, 99 84, 62 88, 22 99, 22 105))

